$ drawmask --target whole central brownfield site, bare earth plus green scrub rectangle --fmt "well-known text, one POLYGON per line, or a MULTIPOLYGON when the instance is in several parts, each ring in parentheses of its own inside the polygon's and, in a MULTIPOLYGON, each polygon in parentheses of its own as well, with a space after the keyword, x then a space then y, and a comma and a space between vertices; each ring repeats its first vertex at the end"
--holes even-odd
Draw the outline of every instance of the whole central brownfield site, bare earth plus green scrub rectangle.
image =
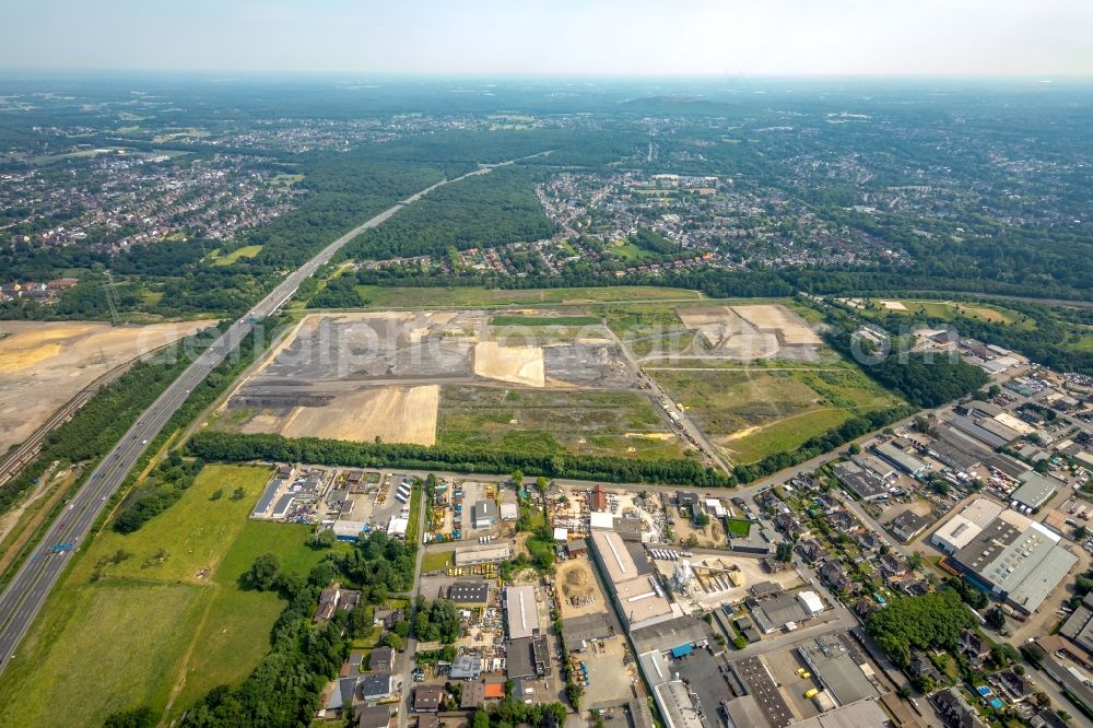
POLYGON ((632 391, 636 374, 595 317, 583 327, 493 326, 490 318, 481 310, 305 316, 232 394, 214 426, 681 454, 648 398, 632 391))

